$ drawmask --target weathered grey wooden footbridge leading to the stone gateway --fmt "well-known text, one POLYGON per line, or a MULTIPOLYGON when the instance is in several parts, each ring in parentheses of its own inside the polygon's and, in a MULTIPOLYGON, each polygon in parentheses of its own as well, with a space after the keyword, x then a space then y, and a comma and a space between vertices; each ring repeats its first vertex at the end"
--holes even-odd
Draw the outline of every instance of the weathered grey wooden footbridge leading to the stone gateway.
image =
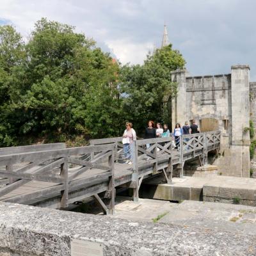
POLYGON ((133 164, 124 163, 122 137, 76 148, 65 143, 0 148, 0 201, 65 209, 94 196, 111 214, 117 187, 132 188, 138 201, 145 177, 162 172, 171 183, 173 166, 183 177, 185 161, 198 157, 206 164, 208 152, 220 148, 220 136, 220 131, 182 135, 178 149, 172 137, 137 140, 133 164))

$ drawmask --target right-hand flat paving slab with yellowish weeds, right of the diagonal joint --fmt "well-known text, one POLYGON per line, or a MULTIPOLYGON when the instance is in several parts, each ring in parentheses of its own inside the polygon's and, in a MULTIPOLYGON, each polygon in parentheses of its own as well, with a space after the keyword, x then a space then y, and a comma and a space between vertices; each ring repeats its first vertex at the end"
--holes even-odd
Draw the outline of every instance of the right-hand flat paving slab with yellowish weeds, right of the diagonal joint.
POLYGON ((184 201, 159 222, 256 234, 256 208, 246 205, 184 201))

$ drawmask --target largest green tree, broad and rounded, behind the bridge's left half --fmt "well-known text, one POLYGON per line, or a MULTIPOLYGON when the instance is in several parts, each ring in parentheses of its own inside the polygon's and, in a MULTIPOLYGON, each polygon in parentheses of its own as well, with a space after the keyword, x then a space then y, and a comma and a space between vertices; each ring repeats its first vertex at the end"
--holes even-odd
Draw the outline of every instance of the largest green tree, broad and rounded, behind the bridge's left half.
MULTIPOLYGON (((12 33, 13 28, 7 34, 12 33)), ((10 54, 0 65, 10 63, 12 70, 10 82, 3 82, 12 86, 1 104, 1 145, 19 144, 28 136, 62 141, 77 134, 115 134, 118 65, 109 54, 74 27, 47 19, 36 22, 24 51, 22 61, 10 63, 10 54)))

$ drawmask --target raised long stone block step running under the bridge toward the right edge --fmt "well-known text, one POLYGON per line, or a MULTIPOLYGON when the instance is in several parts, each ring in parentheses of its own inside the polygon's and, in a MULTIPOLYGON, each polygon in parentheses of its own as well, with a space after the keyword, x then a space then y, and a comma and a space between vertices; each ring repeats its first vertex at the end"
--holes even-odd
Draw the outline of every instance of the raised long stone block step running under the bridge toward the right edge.
POLYGON ((173 184, 159 184, 162 178, 143 184, 141 197, 158 200, 204 200, 243 205, 256 205, 256 180, 215 176, 173 178, 173 184))

